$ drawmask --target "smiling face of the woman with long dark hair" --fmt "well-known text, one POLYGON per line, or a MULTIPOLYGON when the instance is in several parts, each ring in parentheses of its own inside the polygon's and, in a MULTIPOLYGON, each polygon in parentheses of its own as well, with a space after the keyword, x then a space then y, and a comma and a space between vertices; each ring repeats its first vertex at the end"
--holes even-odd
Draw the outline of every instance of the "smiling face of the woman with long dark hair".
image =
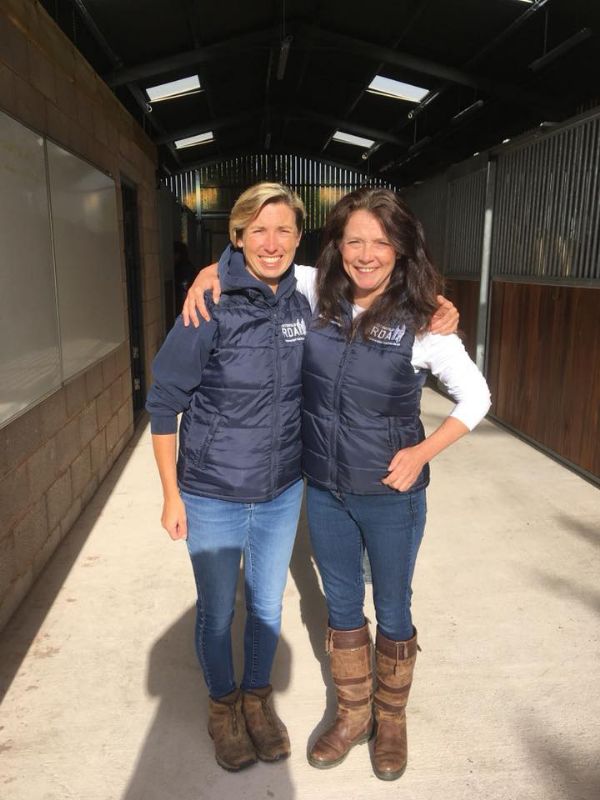
POLYGON ((369 211, 353 211, 339 251, 354 287, 354 302, 369 308, 385 291, 396 264, 394 247, 377 217, 369 211))

